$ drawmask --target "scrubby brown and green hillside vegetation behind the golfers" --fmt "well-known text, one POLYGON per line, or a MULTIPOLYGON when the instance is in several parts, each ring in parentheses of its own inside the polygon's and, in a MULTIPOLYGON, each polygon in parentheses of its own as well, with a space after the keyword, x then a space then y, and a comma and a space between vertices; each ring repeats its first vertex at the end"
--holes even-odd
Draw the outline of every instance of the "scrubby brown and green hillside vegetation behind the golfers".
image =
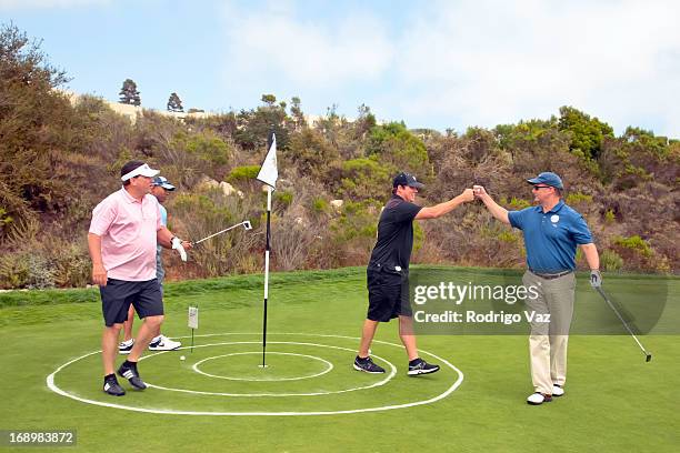
MULTIPOLYGON (((253 223, 254 233, 206 241, 188 264, 166 253, 171 280, 261 271, 266 194, 253 177, 270 131, 280 173, 274 270, 364 264, 391 179, 404 170, 427 184, 422 204, 482 183, 509 209, 531 204, 527 178, 554 171, 566 181, 567 202, 587 218, 604 269, 678 271, 680 142, 652 131, 629 127, 616 137, 603 120, 572 107, 464 132, 379 123, 366 105, 352 121, 330 108, 310 124, 300 99, 289 104, 273 94, 253 109, 208 118, 144 110, 132 123, 94 97, 71 101, 59 90, 67 82, 38 43, 13 26, 0 29, 3 289, 89 282, 91 211, 120 188, 120 167, 130 159, 159 168, 178 187, 167 207, 180 236, 253 223)), ((521 234, 477 203, 422 222, 416 233, 414 262, 523 265, 521 234)))

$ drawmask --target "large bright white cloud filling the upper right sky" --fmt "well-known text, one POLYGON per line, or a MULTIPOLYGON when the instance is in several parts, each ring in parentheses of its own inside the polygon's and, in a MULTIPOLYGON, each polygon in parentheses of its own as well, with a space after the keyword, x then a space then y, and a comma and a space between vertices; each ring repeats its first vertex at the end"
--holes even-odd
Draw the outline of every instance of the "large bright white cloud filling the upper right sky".
POLYGON ((438 3, 403 37, 401 109, 491 127, 573 104, 618 132, 644 112, 677 135, 678 17, 672 1, 438 3))

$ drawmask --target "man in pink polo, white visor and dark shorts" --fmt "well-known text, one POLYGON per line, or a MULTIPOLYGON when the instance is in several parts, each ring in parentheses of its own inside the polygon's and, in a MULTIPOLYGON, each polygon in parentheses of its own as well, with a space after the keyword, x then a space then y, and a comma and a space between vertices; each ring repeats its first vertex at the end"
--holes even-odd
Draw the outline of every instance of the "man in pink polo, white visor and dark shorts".
POLYGON ((151 179, 159 173, 140 161, 126 163, 121 171, 121 190, 113 192, 92 211, 88 245, 92 258, 92 281, 99 285, 104 318, 102 360, 103 391, 122 396, 113 368, 118 339, 130 304, 143 319, 134 346, 118 369, 130 384, 144 390, 137 362, 163 322, 163 302, 156 279, 156 245, 176 249, 187 260, 184 249, 191 244, 176 238, 161 224, 156 199, 150 194, 151 179))

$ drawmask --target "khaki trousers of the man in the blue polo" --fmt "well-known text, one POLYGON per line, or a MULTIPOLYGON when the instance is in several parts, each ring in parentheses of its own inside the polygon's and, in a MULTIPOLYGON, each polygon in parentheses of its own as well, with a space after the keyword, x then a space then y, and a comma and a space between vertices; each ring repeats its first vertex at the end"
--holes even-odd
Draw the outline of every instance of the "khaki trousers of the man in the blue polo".
POLYGON ((529 271, 522 283, 534 286, 538 298, 527 298, 527 309, 537 314, 550 314, 550 323, 531 322, 529 355, 531 381, 536 392, 552 394, 552 384, 564 385, 567 380, 567 343, 573 314, 576 275, 543 279, 529 271))

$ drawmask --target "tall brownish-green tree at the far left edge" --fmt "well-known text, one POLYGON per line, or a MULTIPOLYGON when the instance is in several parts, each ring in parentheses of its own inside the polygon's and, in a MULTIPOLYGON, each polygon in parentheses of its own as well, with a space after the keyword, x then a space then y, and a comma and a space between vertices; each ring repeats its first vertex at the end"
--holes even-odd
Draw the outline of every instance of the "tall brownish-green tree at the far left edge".
POLYGON ((50 154, 62 144, 70 117, 68 100, 54 89, 67 81, 39 41, 13 24, 0 28, 0 235, 53 200, 59 181, 50 154))

